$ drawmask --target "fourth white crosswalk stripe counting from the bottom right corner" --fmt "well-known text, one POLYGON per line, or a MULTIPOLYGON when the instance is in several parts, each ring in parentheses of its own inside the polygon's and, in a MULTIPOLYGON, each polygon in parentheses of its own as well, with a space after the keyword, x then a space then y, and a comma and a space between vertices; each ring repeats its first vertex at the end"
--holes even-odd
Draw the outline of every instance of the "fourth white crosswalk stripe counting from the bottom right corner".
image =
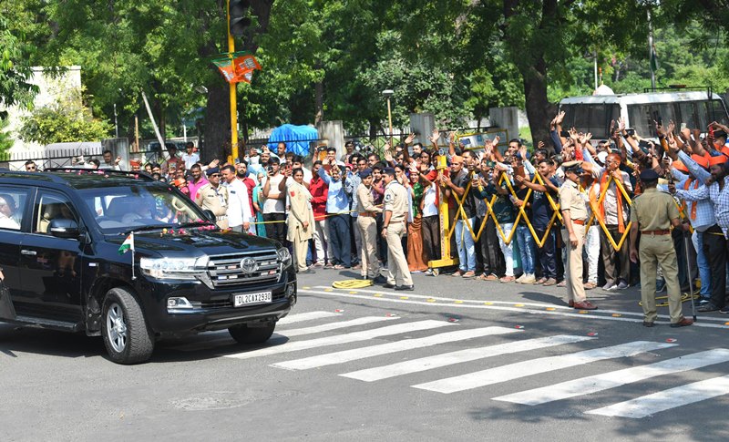
POLYGON ((345 373, 341 376, 359 379, 360 381, 365 382, 374 382, 387 379, 389 377, 424 372, 426 370, 432 370, 434 368, 440 368, 447 365, 461 364, 498 355, 509 355, 512 353, 539 350, 541 348, 554 345, 579 343, 581 341, 589 341, 590 339, 594 338, 588 336, 558 334, 556 336, 488 345, 486 347, 467 348, 466 350, 458 350, 457 352, 445 353, 443 355, 432 355, 396 364, 367 368, 352 373, 345 373))

